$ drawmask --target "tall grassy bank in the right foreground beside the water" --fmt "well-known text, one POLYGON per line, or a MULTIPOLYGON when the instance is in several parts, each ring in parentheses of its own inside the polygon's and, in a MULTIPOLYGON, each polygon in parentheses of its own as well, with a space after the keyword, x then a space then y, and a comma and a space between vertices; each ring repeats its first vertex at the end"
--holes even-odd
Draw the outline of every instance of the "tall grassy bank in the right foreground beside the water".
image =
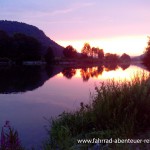
POLYGON ((89 147, 77 139, 136 137, 150 126, 150 77, 143 74, 131 82, 102 83, 88 105, 81 103, 79 110, 63 112, 50 124, 46 150, 89 147))

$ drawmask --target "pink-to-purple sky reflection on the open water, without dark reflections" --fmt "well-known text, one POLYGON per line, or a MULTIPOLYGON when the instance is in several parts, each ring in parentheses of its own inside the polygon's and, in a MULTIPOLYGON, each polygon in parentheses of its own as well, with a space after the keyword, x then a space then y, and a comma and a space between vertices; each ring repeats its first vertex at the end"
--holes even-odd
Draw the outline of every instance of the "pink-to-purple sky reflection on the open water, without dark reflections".
POLYGON ((57 116, 64 110, 78 108, 80 102, 88 102, 90 91, 93 92, 94 85, 108 78, 130 79, 134 73, 142 69, 131 66, 123 71, 103 71, 97 78, 90 78, 83 82, 80 70, 71 79, 58 74, 50 78, 42 87, 34 91, 19 94, 0 95, 0 127, 9 120, 19 135, 24 145, 37 145, 46 137, 44 119, 57 116))

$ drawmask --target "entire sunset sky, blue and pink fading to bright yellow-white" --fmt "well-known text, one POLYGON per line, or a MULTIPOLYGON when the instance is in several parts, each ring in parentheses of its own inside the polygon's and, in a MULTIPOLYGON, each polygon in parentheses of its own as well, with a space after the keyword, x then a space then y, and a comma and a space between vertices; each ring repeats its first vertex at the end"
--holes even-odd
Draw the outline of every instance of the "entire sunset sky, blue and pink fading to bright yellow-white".
POLYGON ((139 55, 150 35, 150 0, 0 0, 0 20, 35 25, 78 51, 89 42, 105 52, 139 55))

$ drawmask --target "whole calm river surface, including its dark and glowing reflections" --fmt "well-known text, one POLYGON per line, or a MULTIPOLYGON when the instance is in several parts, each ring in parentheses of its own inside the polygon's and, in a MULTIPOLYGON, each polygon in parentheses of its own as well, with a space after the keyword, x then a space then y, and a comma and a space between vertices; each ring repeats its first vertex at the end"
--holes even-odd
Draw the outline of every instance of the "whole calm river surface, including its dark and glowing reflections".
POLYGON ((39 147, 46 138, 44 118, 88 103, 90 92, 103 81, 131 80, 143 71, 133 65, 121 67, 0 67, 0 127, 9 120, 24 146, 39 147))

